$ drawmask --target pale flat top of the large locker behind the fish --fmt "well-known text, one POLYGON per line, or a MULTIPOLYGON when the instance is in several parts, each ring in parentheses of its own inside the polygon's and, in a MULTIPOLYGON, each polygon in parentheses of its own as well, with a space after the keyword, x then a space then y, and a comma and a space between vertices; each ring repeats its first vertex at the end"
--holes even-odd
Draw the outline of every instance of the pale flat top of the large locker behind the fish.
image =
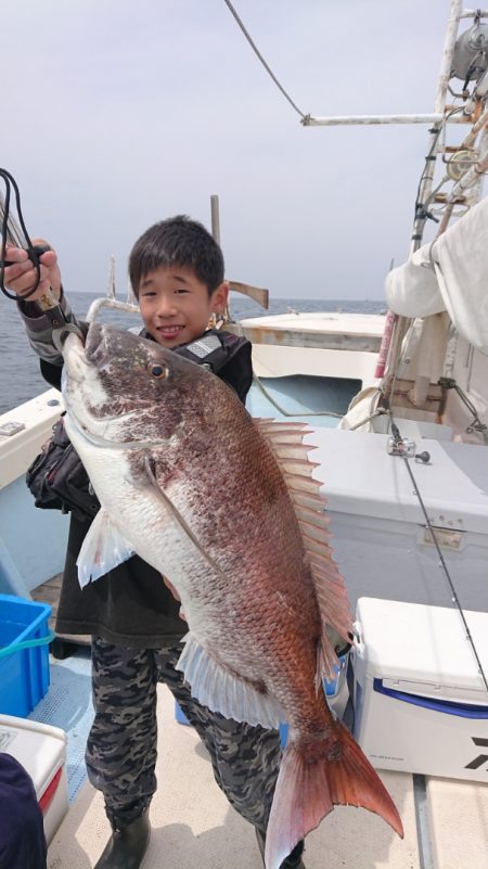
MULTIPOLYGON (((399 426, 401 432, 401 420, 399 426)), ((425 524, 403 459, 388 455, 387 435, 317 427, 305 443, 317 447, 309 457, 319 462, 313 476, 323 483, 331 511, 425 524)), ((487 536, 486 447, 415 443, 418 452, 431 455, 428 464, 410 461, 433 524, 487 536)))

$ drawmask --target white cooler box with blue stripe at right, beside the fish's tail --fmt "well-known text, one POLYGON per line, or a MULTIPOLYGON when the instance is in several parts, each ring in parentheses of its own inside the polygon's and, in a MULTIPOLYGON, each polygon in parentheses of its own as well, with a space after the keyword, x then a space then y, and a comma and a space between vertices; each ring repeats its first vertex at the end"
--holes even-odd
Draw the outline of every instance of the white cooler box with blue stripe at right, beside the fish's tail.
MULTIPOLYGON (((488 613, 464 612, 488 674, 488 613)), ((488 782, 488 692, 458 609, 360 598, 354 734, 373 766, 488 782)))

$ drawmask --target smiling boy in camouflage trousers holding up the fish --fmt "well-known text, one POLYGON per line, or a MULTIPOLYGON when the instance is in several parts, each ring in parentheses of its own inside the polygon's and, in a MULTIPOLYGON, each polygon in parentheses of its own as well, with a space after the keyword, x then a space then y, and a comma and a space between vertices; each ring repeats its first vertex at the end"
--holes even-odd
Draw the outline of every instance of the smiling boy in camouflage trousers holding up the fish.
MULTIPOLYGON (((77 324, 64 295, 54 251, 41 256, 36 282, 25 251, 9 248, 5 284, 20 296, 28 337, 41 357, 49 383, 60 387, 63 359, 52 328, 33 302, 51 287, 68 322, 77 324)), ((207 230, 178 216, 151 227, 136 242, 129 276, 139 301, 141 335, 210 367, 244 402, 252 383, 251 345, 222 331, 207 330, 211 314, 223 311, 228 285, 223 257, 207 230)), ((60 634, 92 634, 95 717, 87 745, 91 783, 103 791, 113 833, 94 869, 138 869, 150 838, 147 809, 156 788, 156 683, 164 681, 204 741, 217 783, 256 829, 264 854, 266 827, 280 765, 274 730, 237 724, 211 713, 190 695, 175 669, 184 634, 178 603, 160 575, 138 557, 80 589, 76 559, 89 517, 72 513, 60 634)), ((299 843, 282 869, 305 869, 299 843)))

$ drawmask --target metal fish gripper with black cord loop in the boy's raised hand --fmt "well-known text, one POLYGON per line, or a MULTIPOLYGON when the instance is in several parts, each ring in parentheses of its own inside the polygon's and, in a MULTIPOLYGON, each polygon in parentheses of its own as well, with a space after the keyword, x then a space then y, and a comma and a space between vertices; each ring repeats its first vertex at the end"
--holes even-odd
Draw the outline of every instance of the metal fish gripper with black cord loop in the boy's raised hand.
MULTIPOLYGON (((46 252, 50 251, 51 248, 49 244, 33 244, 33 242, 30 241, 29 233, 27 232, 27 228, 24 222, 24 216, 22 214, 21 193, 18 190, 18 184, 15 181, 13 175, 11 175, 11 172, 9 172, 7 169, 0 169, 0 178, 3 180, 5 184, 4 197, 0 193, 0 223, 1 223, 0 290, 3 293, 3 295, 7 296, 7 298, 10 298, 14 302, 18 299, 18 296, 15 293, 9 293, 9 291, 4 285, 5 268, 8 266, 13 265, 13 263, 5 259, 7 243, 10 242, 11 244, 14 244, 16 247, 23 247, 27 252, 27 256, 36 269, 36 283, 34 284, 34 286, 30 287, 30 290, 22 294, 22 299, 27 301, 30 298, 31 295, 34 295, 41 281, 40 257, 42 256, 42 254, 46 254, 46 252), (17 212, 18 222, 11 214, 12 190, 15 195, 15 207, 17 212)), ((43 293, 39 298, 36 298, 31 304, 36 305, 39 312, 48 317, 54 329, 59 329, 60 327, 66 323, 66 317, 64 316, 64 312, 61 309, 59 299, 56 298, 54 292, 51 289, 47 290, 46 293, 43 293)))

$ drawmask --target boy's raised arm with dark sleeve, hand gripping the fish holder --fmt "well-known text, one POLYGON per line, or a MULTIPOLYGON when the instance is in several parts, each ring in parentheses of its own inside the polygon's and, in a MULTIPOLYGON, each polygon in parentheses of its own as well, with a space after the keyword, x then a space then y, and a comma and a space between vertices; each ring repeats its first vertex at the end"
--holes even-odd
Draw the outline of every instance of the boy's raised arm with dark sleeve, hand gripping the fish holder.
MULTIPOLYGON (((36 239, 34 243, 47 244, 42 239, 36 239)), ((79 325, 63 293, 55 251, 51 248, 41 255, 39 259, 41 280, 36 292, 29 295, 28 298, 24 298, 24 296, 36 284, 37 271, 28 258, 27 252, 22 247, 8 245, 5 259, 12 265, 5 267, 4 284, 17 295, 17 307, 31 347, 41 359, 55 366, 62 366, 63 358, 52 343, 53 328, 49 317, 43 315, 39 306, 35 304, 37 299, 46 295, 48 290, 51 290, 59 302, 66 322, 79 325)))

